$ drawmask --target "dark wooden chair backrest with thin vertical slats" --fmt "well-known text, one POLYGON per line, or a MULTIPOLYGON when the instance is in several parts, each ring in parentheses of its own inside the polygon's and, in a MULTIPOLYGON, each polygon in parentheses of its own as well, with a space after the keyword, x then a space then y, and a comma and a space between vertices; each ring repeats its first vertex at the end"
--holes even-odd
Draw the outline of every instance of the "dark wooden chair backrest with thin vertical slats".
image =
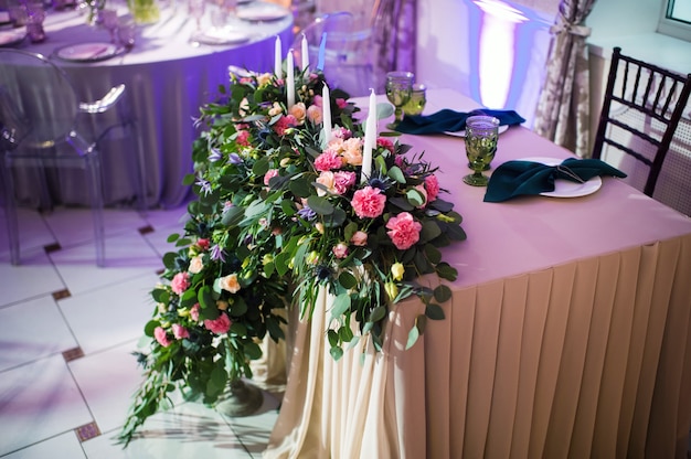
POLYGON ((648 173, 642 191, 652 196, 690 93, 691 74, 676 74, 623 55, 621 49, 615 47, 593 158, 645 164, 648 173), (607 158, 606 146, 615 149, 607 148, 607 158))

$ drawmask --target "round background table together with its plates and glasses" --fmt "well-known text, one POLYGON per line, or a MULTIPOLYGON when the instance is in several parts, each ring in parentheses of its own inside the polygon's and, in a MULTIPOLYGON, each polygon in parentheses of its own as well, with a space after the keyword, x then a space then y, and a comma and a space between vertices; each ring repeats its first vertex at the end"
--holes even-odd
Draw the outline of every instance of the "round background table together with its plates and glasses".
MULTIPOLYGON (((152 3, 132 1, 142 7, 152 3)), ((226 22, 220 23, 212 18, 220 3, 209 1, 198 28, 187 0, 155 4, 157 13, 148 11, 137 20, 124 0, 100 1, 91 19, 88 6, 63 3, 44 9, 43 40, 32 42, 25 36, 26 26, 13 26, 9 15, 0 32, 19 36, 3 45, 54 61, 71 77, 83 100, 95 100, 125 84, 128 105, 138 120, 147 202, 176 206, 189 194, 182 178, 192 167, 193 119, 199 107, 217 97, 219 85, 228 81, 230 65, 273 68, 275 38, 291 42, 293 15, 277 4, 238 0, 237 4, 223 3, 227 9, 221 21, 226 22), (200 30, 208 40, 195 35, 200 30)), ((106 204, 131 199, 135 190, 127 186, 125 168, 110 166, 105 169, 109 174, 106 204)), ((65 174, 74 177, 71 171, 61 172, 65 180, 61 180, 56 201, 87 205, 88 196, 77 185, 81 181, 67 180, 65 174)), ((21 201, 35 201, 31 183, 18 183, 18 189, 21 201)))

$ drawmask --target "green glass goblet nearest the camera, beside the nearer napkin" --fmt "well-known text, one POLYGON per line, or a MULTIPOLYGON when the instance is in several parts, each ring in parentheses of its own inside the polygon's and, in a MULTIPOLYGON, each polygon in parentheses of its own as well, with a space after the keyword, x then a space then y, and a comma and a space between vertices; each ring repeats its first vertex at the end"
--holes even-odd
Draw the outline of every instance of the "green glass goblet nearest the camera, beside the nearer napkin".
POLYGON ((495 159, 499 119, 492 116, 471 116, 466 120, 466 154, 472 173, 464 182, 472 186, 487 186, 489 179, 482 175, 485 167, 495 159))

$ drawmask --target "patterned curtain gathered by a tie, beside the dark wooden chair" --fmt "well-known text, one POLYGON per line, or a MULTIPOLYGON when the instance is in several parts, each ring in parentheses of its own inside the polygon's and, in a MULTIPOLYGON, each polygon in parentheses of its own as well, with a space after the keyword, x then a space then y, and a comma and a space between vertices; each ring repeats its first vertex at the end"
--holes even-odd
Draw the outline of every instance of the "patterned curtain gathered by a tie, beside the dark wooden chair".
POLYGON ((589 157, 589 77, 583 25, 595 0, 562 0, 548 56, 548 74, 538 102, 534 130, 580 157, 589 157))

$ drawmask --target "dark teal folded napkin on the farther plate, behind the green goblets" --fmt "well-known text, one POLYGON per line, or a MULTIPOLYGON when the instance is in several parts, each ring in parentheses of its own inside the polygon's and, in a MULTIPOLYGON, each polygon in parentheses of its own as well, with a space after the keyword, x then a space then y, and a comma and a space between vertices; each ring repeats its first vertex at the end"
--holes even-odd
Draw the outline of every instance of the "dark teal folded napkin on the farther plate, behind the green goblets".
POLYGON ((490 110, 479 108, 470 113, 455 111, 445 108, 429 116, 413 115, 404 116, 396 130, 404 134, 438 134, 456 132, 466 128, 466 119, 475 115, 489 115, 499 119, 500 126, 513 126, 525 120, 513 110, 490 110))

